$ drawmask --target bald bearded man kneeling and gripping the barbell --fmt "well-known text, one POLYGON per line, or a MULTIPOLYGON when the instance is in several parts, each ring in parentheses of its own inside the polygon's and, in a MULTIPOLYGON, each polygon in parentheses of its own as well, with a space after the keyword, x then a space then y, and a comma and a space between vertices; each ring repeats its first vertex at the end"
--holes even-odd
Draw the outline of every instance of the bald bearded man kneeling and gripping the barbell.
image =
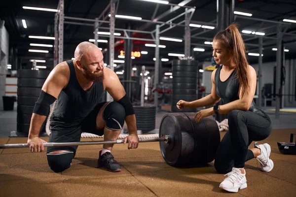
MULTIPOLYGON (((79 142, 82 132, 104 134, 104 140, 116 140, 124 121, 129 135, 128 149, 138 147, 136 117, 116 73, 104 67, 101 50, 90 42, 81 42, 75 49, 75 60, 58 64, 50 72, 36 102, 28 144, 31 152, 44 150, 38 137, 50 105, 57 99, 50 117, 49 142, 79 142), (104 90, 114 99, 100 102, 104 90)), ((99 152, 98 166, 118 172, 120 165, 111 154, 113 144, 104 144, 99 152)), ((47 161, 54 172, 69 168, 77 146, 47 147, 47 161)))

